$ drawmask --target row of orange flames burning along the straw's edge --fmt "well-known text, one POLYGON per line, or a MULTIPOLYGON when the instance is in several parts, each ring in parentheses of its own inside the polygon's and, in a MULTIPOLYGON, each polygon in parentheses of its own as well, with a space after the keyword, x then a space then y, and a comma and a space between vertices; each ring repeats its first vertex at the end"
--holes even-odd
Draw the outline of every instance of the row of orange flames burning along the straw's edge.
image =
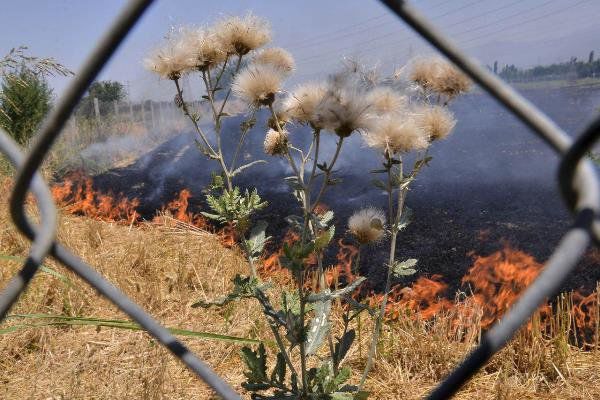
MULTIPOLYGON (((141 223, 142 218, 136 209, 138 199, 128 199, 123 195, 100 193, 93 188, 92 179, 84 174, 73 174, 62 183, 52 188, 55 200, 69 213, 85 215, 103 221, 117 221, 127 224, 141 223)), ((173 219, 194 225, 201 229, 211 229, 210 224, 199 214, 190 212, 189 199, 192 196, 187 189, 182 190, 171 202, 161 210, 160 215, 169 214, 173 219)), ((154 223, 161 223, 157 217, 154 223)), ((164 222, 164 220, 162 221, 164 222)), ((214 231, 223 244, 233 246, 235 237, 232 229, 214 231)), ((298 236, 288 231, 283 241, 291 244, 298 236)), ((353 263, 356 260, 357 248, 343 239, 339 239, 336 264, 326 270, 327 284, 335 287, 339 282, 351 282, 355 279, 353 263)), ((282 247, 264 257, 260 273, 264 277, 289 280, 290 277, 282 269, 279 259, 282 247)), ((516 301, 522 291, 529 286, 542 269, 542 264, 531 255, 515 249, 508 244, 504 248, 488 256, 470 254, 473 264, 462 278, 462 287, 466 291, 462 296, 449 299, 448 285, 441 275, 419 277, 410 286, 397 285, 392 288, 386 316, 389 320, 399 319, 403 315, 411 315, 422 320, 431 320, 436 316, 454 315, 454 321, 476 321, 482 328, 489 328, 516 301)), ((307 264, 315 264, 315 260, 307 260, 307 264)), ((306 280, 307 285, 315 286, 313 278, 306 280)), ((356 298, 365 300, 376 307, 381 303, 382 295, 363 284, 354 294, 356 298)), ((570 295, 570 315, 572 330, 584 343, 597 343, 600 318, 598 316, 598 291, 590 295, 574 292, 570 295)), ((542 323, 551 324, 553 305, 548 303, 539 310, 542 323)))

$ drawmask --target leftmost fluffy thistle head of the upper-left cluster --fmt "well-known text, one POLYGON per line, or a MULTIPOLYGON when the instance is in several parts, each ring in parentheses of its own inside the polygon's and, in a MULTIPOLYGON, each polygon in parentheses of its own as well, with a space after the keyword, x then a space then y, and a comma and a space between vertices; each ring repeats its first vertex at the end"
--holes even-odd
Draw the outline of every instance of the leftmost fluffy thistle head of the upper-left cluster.
POLYGON ((144 59, 144 67, 165 79, 179 79, 195 66, 193 54, 181 38, 171 38, 167 43, 144 59))

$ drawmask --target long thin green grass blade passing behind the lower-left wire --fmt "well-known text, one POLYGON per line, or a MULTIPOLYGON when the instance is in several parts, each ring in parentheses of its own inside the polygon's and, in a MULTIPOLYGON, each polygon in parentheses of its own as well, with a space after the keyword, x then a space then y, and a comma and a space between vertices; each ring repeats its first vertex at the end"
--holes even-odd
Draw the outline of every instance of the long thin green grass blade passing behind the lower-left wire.
MULTIPOLYGON (((13 314, 7 316, 7 319, 39 319, 44 322, 27 323, 12 325, 4 329, 0 329, 0 334, 7 334, 24 329, 40 328, 47 326, 100 326, 107 328, 127 329, 132 331, 143 331, 139 324, 133 321, 117 320, 117 319, 102 319, 93 317, 71 317, 67 315, 51 315, 51 314, 13 314)), ((190 336, 201 339, 219 340, 233 343, 258 344, 259 340, 241 338, 236 336, 221 335, 217 333, 190 331, 179 328, 167 328, 169 332, 179 336, 190 336)))

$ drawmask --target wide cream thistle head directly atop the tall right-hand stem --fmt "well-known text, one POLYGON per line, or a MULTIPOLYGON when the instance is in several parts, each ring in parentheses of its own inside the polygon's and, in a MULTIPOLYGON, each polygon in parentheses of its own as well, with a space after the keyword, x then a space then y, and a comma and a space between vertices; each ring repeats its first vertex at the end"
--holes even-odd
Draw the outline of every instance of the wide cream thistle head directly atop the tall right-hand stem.
POLYGON ((424 150, 429 146, 429 136, 415 118, 394 114, 373 119, 364 140, 369 147, 388 155, 424 150))

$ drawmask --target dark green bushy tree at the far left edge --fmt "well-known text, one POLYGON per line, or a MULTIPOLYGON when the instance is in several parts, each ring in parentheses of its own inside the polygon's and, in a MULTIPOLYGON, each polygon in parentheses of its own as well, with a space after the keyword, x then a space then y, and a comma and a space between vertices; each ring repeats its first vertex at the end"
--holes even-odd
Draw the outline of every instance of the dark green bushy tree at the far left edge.
POLYGON ((26 145, 50 110, 52 89, 43 74, 27 67, 4 75, 0 91, 0 126, 26 145))

